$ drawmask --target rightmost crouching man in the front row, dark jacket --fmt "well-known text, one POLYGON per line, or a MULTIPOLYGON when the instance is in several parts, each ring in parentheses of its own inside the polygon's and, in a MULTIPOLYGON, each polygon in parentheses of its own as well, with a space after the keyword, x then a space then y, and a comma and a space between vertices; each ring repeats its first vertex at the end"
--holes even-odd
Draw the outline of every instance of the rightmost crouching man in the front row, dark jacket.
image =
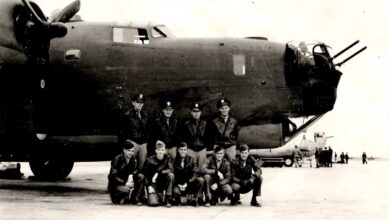
POLYGON ((261 161, 256 161, 249 155, 249 147, 243 144, 239 147, 240 155, 232 161, 232 205, 241 204, 240 193, 247 193, 253 189, 251 205, 261 207, 256 197, 261 195, 261 161), (252 174, 253 172, 253 174, 252 174))

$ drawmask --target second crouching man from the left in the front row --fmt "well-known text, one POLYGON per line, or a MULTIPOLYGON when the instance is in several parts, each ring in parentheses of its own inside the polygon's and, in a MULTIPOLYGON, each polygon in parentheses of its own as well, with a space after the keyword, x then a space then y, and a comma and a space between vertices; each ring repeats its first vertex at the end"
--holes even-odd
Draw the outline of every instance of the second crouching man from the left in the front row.
MULTIPOLYGON (((165 144, 162 141, 156 142, 156 155, 146 159, 143 172, 145 174, 145 184, 148 194, 156 192, 162 194, 165 191, 165 203, 171 207, 172 187, 175 180, 173 174, 173 164, 171 158, 166 154, 165 144)), ((148 197, 149 204, 158 205, 148 197)))

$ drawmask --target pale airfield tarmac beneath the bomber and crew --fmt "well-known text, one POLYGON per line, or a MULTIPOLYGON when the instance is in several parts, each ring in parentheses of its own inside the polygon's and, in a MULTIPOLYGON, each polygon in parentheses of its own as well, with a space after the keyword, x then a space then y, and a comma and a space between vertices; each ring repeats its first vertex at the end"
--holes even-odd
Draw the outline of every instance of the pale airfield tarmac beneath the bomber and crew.
MULTIPOLYGON (((333 168, 263 168, 260 202, 242 205, 148 207, 112 205, 109 162, 76 163, 71 180, 0 180, 0 219, 390 219, 390 161, 350 160, 333 168)), ((32 175, 22 163, 24 175, 32 175)))

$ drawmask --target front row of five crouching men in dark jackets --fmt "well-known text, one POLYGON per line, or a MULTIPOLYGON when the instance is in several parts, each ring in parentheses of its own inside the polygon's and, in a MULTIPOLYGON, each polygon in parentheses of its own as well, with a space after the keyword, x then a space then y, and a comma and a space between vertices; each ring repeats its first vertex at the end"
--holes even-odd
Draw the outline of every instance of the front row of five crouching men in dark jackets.
POLYGON ((150 206, 218 205, 228 198, 232 205, 241 204, 240 193, 253 189, 252 206, 260 207, 261 161, 249 154, 249 147, 241 145, 233 160, 225 157, 225 150, 214 148, 213 156, 201 166, 187 154, 187 144, 181 142, 177 156, 171 158, 162 141, 156 142, 156 154, 147 158, 139 169, 134 157, 134 144, 126 140, 123 153, 111 162, 108 190, 114 204, 150 206), (200 169, 198 167, 201 167, 200 169))

